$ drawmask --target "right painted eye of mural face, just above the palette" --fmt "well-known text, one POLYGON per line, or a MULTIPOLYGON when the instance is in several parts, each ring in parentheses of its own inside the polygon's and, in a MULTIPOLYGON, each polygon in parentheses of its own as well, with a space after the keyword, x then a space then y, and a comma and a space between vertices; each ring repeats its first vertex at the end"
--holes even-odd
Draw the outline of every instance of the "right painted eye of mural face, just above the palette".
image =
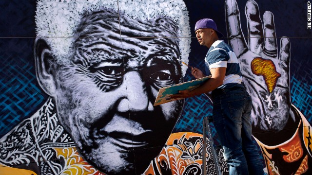
POLYGON ((173 75, 170 70, 159 70, 150 75, 150 81, 158 88, 174 85, 173 75))

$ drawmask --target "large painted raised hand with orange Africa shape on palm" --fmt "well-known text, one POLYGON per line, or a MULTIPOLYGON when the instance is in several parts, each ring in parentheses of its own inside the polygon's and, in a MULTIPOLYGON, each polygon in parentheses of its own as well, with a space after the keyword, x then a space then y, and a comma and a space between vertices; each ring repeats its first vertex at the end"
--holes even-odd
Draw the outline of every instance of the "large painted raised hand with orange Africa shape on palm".
POLYGON ((244 84, 253 99, 253 127, 262 131, 281 130, 292 118, 290 100, 290 41, 277 42, 273 14, 266 11, 263 24, 258 4, 246 3, 248 44, 241 30, 235 0, 226 0, 225 16, 229 43, 240 60, 244 84))

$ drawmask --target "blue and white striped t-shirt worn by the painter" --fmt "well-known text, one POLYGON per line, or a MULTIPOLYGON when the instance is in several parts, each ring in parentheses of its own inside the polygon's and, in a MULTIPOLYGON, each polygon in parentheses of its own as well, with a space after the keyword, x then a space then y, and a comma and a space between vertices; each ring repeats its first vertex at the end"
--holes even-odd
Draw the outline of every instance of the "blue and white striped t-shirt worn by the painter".
POLYGON ((209 70, 212 68, 227 68, 223 84, 218 88, 241 86, 238 85, 242 82, 242 73, 237 57, 232 48, 223 40, 217 40, 213 43, 205 57, 205 64, 209 70))

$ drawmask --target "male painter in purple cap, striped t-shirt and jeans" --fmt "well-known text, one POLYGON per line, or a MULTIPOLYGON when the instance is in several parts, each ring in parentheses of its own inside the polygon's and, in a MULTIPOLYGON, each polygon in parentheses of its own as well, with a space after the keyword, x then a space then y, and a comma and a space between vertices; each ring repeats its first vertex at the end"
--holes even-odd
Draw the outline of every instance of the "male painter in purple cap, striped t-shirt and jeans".
MULTIPOLYGON (((215 129, 224 149, 230 175, 263 175, 258 151, 252 140, 252 100, 242 83, 239 62, 223 40, 213 19, 200 19, 195 35, 201 46, 209 48, 205 64, 212 77, 194 90, 181 90, 173 98, 193 97, 212 91, 215 129)), ((195 78, 206 75, 192 68, 195 78)))

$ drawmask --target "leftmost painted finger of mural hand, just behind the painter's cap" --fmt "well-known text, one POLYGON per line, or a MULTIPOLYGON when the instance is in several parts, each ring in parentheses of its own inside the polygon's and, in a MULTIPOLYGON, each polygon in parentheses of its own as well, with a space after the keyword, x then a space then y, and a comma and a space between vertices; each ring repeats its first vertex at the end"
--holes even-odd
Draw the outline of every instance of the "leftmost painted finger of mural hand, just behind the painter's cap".
POLYGON ((244 35, 241 31, 239 10, 235 0, 225 1, 225 21, 226 29, 236 56, 245 53, 248 50, 244 35))

